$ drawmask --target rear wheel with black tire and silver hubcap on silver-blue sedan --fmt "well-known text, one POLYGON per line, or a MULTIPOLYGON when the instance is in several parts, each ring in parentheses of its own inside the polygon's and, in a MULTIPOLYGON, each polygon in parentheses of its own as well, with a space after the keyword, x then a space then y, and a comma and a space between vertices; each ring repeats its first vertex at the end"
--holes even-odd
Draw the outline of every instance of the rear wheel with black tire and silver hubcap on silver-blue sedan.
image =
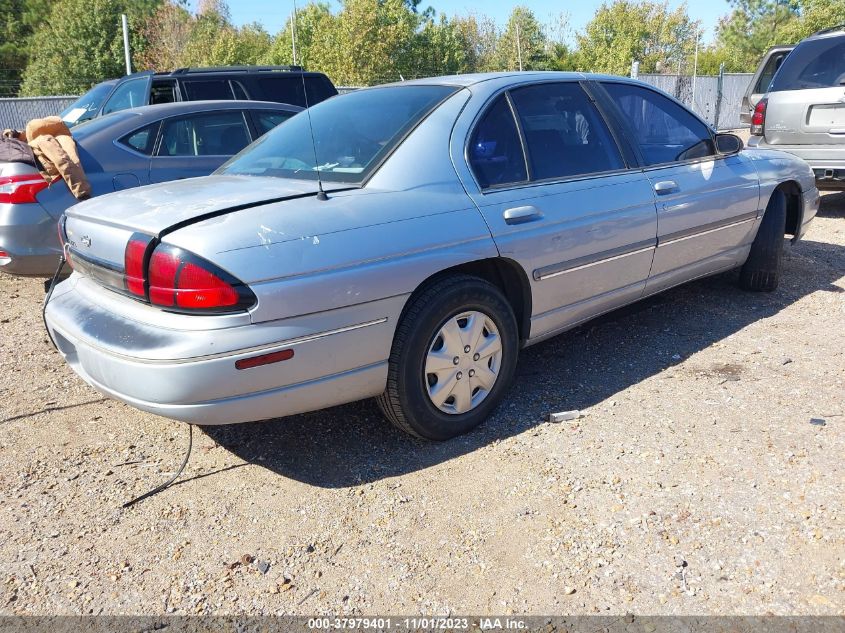
POLYGON ((516 319, 496 286, 470 275, 436 281, 399 322, 379 407, 417 437, 466 433, 501 401, 518 348, 516 319))

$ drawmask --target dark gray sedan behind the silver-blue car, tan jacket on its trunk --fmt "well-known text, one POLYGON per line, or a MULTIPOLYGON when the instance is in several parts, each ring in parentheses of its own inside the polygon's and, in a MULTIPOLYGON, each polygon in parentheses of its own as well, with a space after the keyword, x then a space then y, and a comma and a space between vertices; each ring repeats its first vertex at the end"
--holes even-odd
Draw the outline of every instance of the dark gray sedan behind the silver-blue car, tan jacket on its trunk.
MULTIPOLYGON (((94 196, 207 176, 302 108, 257 101, 194 101, 123 110, 73 128, 94 196)), ((64 181, 0 163, 0 271, 47 276, 61 245, 56 222, 76 203, 64 181)))

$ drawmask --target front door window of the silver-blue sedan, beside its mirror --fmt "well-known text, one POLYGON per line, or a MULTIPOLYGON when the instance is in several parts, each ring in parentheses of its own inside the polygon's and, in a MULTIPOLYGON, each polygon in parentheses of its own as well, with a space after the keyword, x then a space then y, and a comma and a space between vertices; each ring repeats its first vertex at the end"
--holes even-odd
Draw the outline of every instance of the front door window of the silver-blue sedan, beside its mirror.
POLYGON ((604 83, 622 111, 646 165, 716 154, 710 130, 686 108, 663 95, 627 83, 604 83))

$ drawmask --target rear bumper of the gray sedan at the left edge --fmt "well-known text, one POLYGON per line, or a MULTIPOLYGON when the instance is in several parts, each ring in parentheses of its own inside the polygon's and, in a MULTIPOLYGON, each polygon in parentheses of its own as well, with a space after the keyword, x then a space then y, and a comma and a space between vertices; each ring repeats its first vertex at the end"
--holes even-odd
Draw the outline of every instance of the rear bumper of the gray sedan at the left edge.
POLYGON ((40 204, 0 204, 0 251, 0 271, 49 277, 61 254, 56 219, 40 204))

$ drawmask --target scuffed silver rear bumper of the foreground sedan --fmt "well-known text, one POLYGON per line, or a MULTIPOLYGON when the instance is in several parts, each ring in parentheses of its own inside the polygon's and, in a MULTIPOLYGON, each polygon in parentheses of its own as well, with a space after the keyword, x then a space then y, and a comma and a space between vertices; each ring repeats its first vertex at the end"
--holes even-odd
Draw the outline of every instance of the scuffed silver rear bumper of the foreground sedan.
POLYGON ((210 332, 129 324, 99 305, 86 284, 91 282, 74 275, 57 287, 47 326, 79 376, 138 409, 194 424, 229 424, 313 411, 384 390, 393 310, 401 310, 397 298, 210 332), (103 346, 98 333, 109 331, 127 339, 123 349, 103 346), (167 349, 178 353, 168 358, 167 349), (235 367, 240 359, 282 349, 293 350, 293 358, 235 367))

